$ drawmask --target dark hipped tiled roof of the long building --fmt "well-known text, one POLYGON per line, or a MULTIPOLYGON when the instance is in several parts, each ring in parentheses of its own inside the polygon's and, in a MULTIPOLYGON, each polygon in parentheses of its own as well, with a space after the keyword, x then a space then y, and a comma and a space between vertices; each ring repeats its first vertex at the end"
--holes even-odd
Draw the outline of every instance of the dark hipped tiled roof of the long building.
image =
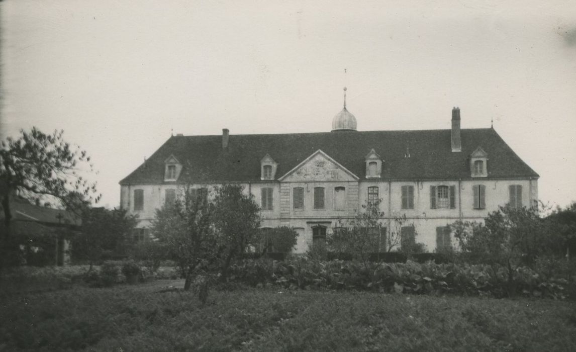
POLYGON ((259 181, 266 154, 278 162, 278 179, 319 149, 361 179, 372 149, 384 160, 384 180, 466 179, 477 147, 488 154, 489 178, 539 177, 492 128, 462 129, 461 139, 462 152, 452 152, 450 130, 230 135, 226 149, 221 135, 173 136, 120 184, 164 183, 170 155, 183 165, 179 182, 259 181))

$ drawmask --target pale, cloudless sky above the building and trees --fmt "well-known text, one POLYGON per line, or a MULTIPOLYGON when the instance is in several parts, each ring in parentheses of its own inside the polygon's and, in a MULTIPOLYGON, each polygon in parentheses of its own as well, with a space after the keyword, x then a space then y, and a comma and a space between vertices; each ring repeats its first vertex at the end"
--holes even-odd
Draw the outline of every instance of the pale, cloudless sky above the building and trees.
MULTIPOLYGON (((65 130, 101 205, 170 137, 494 127, 576 200, 576 3, 566 1, 0 2, 0 133, 65 130), (344 77, 344 68, 347 77, 344 77)), ((497 157, 497 156, 489 156, 497 157)))

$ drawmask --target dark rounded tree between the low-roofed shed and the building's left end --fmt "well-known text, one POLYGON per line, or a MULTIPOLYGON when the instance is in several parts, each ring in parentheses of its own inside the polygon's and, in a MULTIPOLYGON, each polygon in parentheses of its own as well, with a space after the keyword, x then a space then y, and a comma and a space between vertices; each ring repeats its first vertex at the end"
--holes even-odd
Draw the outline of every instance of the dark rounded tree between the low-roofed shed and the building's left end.
POLYGON ((123 209, 87 208, 82 211, 82 225, 72 238, 72 258, 87 260, 90 270, 95 262, 114 253, 124 253, 137 217, 123 209))

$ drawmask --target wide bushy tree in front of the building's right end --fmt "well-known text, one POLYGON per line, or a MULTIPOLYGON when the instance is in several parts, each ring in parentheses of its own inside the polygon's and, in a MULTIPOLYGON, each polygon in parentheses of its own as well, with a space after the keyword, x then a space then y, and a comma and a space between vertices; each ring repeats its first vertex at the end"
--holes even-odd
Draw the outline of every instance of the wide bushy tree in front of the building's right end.
POLYGON ((538 256, 554 251, 556 234, 534 209, 499 207, 488 214, 484 225, 457 221, 451 225, 461 251, 471 262, 506 269, 509 294, 516 269, 538 256))

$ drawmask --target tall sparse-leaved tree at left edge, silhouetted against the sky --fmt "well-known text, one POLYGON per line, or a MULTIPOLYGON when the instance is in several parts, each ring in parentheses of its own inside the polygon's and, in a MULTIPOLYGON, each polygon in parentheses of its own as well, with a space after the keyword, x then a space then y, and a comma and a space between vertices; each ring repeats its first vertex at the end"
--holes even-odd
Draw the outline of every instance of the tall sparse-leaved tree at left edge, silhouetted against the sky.
POLYGON ((90 157, 62 138, 63 130, 44 134, 36 127, 20 131, 20 137, 8 137, 0 147, 0 202, 3 210, 3 236, 0 236, 0 265, 16 264, 20 256, 10 224, 10 198, 18 193, 29 200, 52 198, 63 205, 75 201, 74 194, 98 201, 96 183, 80 176, 93 171, 90 157), (88 168, 83 169, 84 166, 88 168), (74 193, 75 192, 75 193, 74 193))

